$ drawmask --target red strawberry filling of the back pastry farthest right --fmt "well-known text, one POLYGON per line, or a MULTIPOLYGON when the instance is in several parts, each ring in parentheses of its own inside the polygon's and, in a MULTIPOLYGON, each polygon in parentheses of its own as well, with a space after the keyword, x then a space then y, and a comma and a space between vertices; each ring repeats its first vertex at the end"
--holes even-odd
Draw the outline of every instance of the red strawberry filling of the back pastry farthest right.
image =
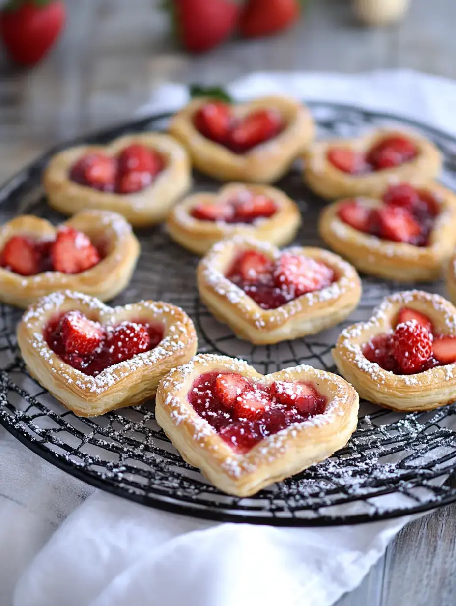
POLYGON ((327 158, 343 173, 364 175, 400 166, 410 162, 417 155, 418 149, 413 141, 404 136, 393 135, 376 143, 367 152, 355 151, 351 147, 331 147, 327 158))

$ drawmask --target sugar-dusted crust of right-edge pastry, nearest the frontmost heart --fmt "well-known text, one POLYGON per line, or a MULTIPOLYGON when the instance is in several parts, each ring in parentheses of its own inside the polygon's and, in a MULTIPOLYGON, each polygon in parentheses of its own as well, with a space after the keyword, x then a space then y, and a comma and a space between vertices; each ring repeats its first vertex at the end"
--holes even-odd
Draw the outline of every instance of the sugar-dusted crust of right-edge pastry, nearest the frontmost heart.
POLYGON ((360 398, 400 411, 432 410, 456 399, 456 366, 446 364, 417 375, 394 375, 363 355, 372 337, 392 330, 401 307, 410 307, 431 318, 437 333, 456 335, 456 308, 439 295, 409 290, 386 297, 368 322, 345 328, 332 350, 342 376, 360 398))

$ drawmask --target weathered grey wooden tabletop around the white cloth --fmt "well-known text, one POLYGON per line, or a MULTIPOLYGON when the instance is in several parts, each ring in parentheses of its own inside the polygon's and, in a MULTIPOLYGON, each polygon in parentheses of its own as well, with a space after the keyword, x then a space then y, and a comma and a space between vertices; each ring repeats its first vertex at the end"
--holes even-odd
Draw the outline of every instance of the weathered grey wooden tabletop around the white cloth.
MULTIPOLYGON (((396 67, 456 78, 454 0, 412 0, 405 22, 379 29, 355 24, 348 0, 309 0, 302 22, 284 35, 203 56, 179 50, 157 4, 68 0, 65 35, 39 67, 19 72, 0 56, 0 181, 55 142, 130 118, 165 81, 396 67)), ((412 522, 337 606, 454 605, 455 538, 456 505, 412 522)))

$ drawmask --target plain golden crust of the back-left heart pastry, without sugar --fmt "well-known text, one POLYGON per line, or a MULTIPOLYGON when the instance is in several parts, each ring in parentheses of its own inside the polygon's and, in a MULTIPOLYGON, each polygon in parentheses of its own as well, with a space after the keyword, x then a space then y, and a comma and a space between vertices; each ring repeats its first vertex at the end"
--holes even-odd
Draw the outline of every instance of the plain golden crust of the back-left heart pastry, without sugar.
POLYGON ((164 221, 170 208, 191 186, 191 167, 187 152, 177 141, 160 133, 136 133, 115 139, 109 145, 78 145, 60 151, 49 162, 43 177, 48 203, 64 215, 85 208, 113 210, 133 227, 145 227, 164 221), (150 187, 138 193, 119 194, 97 191, 79 185, 68 177, 71 166, 87 153, 116 156, 127 145, 140 143, 164 156, 166 166, 150 187))

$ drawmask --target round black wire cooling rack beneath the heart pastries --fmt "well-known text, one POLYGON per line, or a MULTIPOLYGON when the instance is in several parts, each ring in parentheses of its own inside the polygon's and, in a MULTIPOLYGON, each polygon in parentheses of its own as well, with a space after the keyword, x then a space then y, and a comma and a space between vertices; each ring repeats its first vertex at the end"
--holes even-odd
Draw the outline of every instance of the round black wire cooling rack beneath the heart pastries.
MULTIPOLYGON (((456 140, 424 124, 357 107, 314 102, 320 136, 354 136, 369 127, 409 126, 443 151, 442 181, 456 189, 456 140)), ((165 127, 168 115, 152 116, 68 142, 108 142, 128 132, 165 127)), ((61 216, 45 204, 42 168, 58 148, 33 162, 0 189, 2 222, 34 213, 56 224, 61 216)), ((210 179, 194 175, 199 190, 215 190, 210 179)), ((297 241, 323 245, 316 225, 323 201, 305 189, 298 170, 279 187, 299 202, 303 227, 297 241)), ((194 319, 199 351, 246 359, 262 373, 297 364, 334 371, 331 347, 340 330, 368 319, 372 307, 400 285, 363 279, 363 298, 351 317, 319 335, 278 345, 255 346, 234 337, 212 318, 197 296, 197 258, 174 244, 162 227, 139 233, 142 255, 130 287, 116 304, 162 299, 194 319)), ((441 284, 427 290, 441 291, 441 284)), ((28 448, 98 488, 152 507, 219 521, 271 525, 352 524, 393 518, 456 501, 449 485, 456 462, 456 408, 400 415, 362 405, 357 431, 327 461, 251 498, 227 496, 180 458, 160 430, 153 402, 81 419, 66 410, 28 375, 16 347, 21 311, 0 305, 0 422, 28 448), (455 430, 455 431, 453 431, 455 430)))

